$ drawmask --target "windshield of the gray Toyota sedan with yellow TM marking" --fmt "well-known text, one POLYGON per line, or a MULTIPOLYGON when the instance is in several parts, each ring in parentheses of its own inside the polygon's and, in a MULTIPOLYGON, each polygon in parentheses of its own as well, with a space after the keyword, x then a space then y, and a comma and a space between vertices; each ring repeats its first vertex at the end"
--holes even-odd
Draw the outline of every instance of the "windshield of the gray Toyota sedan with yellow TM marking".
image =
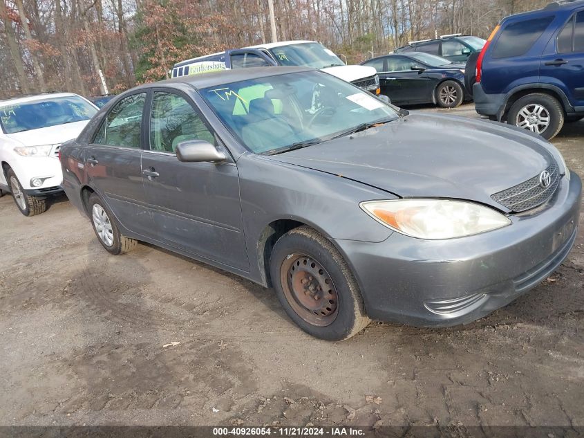
POLYGON ((399 109, 370 93, 318 71, 222 84, 200 93, 256 154, 321 143, 400 116, 399 109))

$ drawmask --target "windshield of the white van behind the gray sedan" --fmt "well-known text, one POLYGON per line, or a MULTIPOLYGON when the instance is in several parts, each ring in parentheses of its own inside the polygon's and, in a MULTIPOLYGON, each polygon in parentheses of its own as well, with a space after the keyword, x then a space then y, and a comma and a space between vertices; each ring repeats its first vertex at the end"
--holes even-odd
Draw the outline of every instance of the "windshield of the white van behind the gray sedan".
POLYGON ((343 66, 334 52, 318 43, 301 43, 270 49, 276 61, 283 66, 306 66, 313 69, 343 66))

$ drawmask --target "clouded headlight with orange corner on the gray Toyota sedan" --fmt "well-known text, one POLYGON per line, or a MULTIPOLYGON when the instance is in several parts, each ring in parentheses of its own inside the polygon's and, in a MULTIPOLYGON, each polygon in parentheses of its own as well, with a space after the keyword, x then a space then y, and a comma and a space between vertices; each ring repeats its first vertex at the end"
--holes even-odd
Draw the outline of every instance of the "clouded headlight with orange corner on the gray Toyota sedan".
POLYGON ((384 226, 418 239, 453 239, 511 224, 500 212, 467 201, 395 199, 359 206, 384 226))

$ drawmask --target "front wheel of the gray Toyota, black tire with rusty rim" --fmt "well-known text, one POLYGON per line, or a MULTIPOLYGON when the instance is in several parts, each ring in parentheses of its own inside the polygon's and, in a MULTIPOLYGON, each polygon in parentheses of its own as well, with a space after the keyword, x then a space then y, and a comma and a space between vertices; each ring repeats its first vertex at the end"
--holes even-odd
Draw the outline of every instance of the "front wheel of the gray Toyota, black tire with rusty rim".
POLYGON ((308 226, 294 228, 276 241, 270 257, 270 275, 276 295, 290 319, 312 336, 324 340, 345 340, 355 336, 369 323, 363 297, 348 264, 326 237, 308 226), (308 264, 301 263, 304 260, 308 260, 308 264), (292 266, 288 267, 290 263, 292 266), (307 271, 301 271, 302 264, 304 269, 310 269, 311 264, 312 268, 317 269, 314 278, 307 271), (319 295, 312 302, 322 300, 322 305, 330 311, 328 316, 322 317, 314 311, 314 307, 308 309, 299 301, 310 300, 310 297, 294 298, 298 296, 294 295, 292 287, 292 282, 297 278, 294 275, 305 275, 300 280, 301 287, 305 288, 304 295, 310 295, 310 291, 319 295), (304 285, 304 282, 310 282, 310 285, 304 285), (320 286, 314 287, 315 284, 320 286), (325 286, 326 290, 321 286, 325 286), (330 307, 326 303, 331 303, 330 307))

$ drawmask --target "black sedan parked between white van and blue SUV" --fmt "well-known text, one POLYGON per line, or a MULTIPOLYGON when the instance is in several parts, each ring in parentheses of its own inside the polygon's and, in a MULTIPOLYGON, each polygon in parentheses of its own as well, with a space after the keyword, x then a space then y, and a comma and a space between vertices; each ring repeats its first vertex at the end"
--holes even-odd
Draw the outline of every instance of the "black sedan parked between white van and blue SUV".
POLYGON ((464 86, 464 64, 428 53, 385 55, 363 62, 375 67, 381 93, 396 105, 438 104, 458 107, 469 94, 464 86))

